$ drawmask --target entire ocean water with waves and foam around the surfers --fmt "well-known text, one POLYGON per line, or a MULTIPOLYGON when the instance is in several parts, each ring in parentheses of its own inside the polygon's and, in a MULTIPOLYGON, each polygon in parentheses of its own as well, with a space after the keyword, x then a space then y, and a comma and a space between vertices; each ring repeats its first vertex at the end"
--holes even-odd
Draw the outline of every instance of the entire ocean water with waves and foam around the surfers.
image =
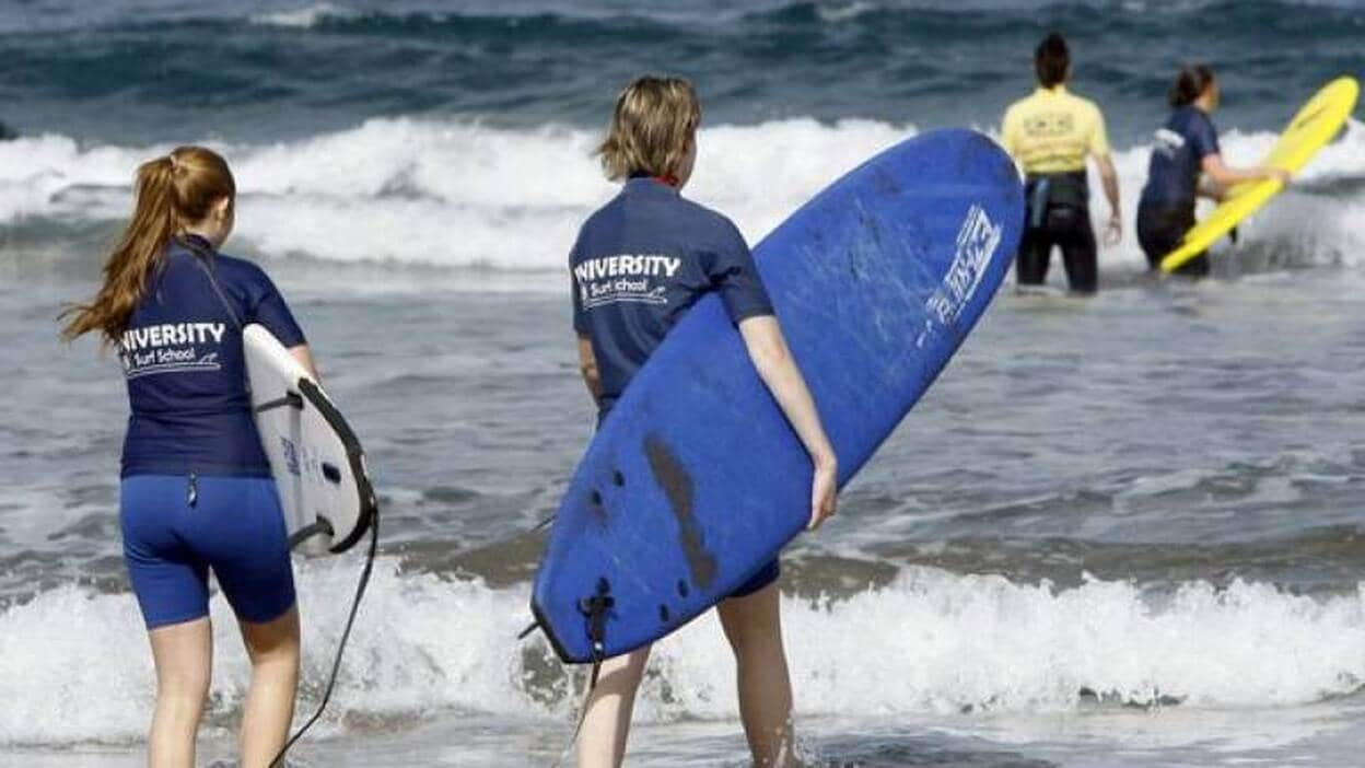
MULTIPOLYGON (((117 538, 116 362, 64 347, 136 163, 207 142, 229 253, 291 298, 384 504, 375 581, 299 765, 535 765, 581 694, 530 622, 586 444, 564 260, 613 194, 617 85, 693 77, 688 194, 752 241, 906 135, 996 130, 1036 38, 1072 37, 1132 230, 1177 63, 1220 71, 1224 154, 1365 72, 1346 1, 621 0, 0 5, 0 765, 138 765, 153 697, 117 538)), ((1365 748, 1365 126, 1155 284, 1132 234, 1092 301, 1002 291, 785 558, 803 749, 820 765, 1360 764, 1365 748)), ((1103 210, 1103 204, 1096 205, 1103 210)), ((1059 268, 1058 268, 1059 271, 1059 268)), ((1061 286, 1061 276, 1054 283, 1061 286)), ((359 555, 298 564, 300 712, 359 555)), ((232 760, 246 660, 214 604, 203 761, 232 760)), ((655 650, 631 763, 744 765, 714 619, 655 650)))

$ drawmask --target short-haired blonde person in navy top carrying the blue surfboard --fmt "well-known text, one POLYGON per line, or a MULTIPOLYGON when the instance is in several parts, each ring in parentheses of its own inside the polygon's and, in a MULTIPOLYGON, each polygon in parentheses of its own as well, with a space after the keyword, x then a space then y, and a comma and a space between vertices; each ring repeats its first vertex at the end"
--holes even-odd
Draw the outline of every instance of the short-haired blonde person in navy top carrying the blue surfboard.
MULTIPOLYGON (((759 376, 811 454, 814 529, 834 514, 834 448, 743 235, 725 216, 680 194, 696 161, 700 119, 696 92, 681 78, 642 77, 616 101, 598 153, 606 175, 624 187, 588 217, 569 256, 583 380, 602 424, 669 329, 703 295, 719 294, 759 376), (627 262, 632 273, 621 279, 616 272, 627 262), (617 269, 599 269, 603 264, 617 269)), ((774 560, 717 605, 734 652, 749 750, 763 767, 796 763, 777 578, 774 560)), ((580 767, 621 764, 648 653, 644 648, 602 664, 583 713, 580 767)))

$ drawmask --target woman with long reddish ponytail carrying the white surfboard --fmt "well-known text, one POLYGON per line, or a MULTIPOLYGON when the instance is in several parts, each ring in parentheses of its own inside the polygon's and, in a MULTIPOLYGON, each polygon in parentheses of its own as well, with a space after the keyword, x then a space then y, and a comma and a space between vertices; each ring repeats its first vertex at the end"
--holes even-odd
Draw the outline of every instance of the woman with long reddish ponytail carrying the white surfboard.
POLYGON ((259 266, 217 249, 236 183, 212 150, 143 163, 132 220, 63 336, 117 350, 131 417, 123 443, 123 555, 152 644, 157 701, 147 764, 194 765, 209 693, 209 570, 251 659, 240 732, 244 768, 284 745, 299 675, 299 614, 284 515, 251 417, 242 327, 259 323, 313 372, 289 307, 259 266))

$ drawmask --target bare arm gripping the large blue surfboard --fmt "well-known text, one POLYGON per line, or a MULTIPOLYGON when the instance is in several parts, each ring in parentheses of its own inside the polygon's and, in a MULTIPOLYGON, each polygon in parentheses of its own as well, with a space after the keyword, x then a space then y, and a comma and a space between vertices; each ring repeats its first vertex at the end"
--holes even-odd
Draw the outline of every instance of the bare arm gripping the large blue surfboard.
POLYGON ((773 392, 782 414, 792 422, 801 444, 811 454, 815 477, 811 482, 811 522, 816 529, 834 514, 838 493, 838 459, 824 435, 815 399, 805 385, 805 377, 792 359, 792 351, 782 336, 782 328, 773 316, 749 317, 740 323, 740 335, 759 379, 773 392))

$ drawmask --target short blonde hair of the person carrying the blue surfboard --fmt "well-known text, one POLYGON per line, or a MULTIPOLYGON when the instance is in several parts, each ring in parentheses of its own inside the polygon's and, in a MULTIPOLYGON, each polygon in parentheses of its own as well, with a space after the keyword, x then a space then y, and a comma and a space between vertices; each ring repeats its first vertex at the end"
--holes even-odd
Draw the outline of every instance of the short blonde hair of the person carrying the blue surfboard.
POLYGON ((631 174, 676 176, 702 122, 702 104, 685 78, 644 75, 621 90, 606 141, 598 148, 612 180, 631 174))

